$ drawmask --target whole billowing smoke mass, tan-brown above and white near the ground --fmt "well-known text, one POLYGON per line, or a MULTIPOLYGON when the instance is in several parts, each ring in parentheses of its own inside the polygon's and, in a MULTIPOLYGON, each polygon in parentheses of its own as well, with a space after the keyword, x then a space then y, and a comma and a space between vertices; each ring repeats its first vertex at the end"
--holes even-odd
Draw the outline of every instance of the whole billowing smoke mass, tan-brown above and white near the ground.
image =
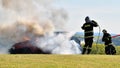
MULTIPOLYGON (((52 0, 0 0, 0 53, 8 53, 15 43, 37 39, 35 45, 53 54, 80 54, 65 35, 54 35, 63 30, 67 14, 50 6, 52 0)), ((65 30, 65 29, 64 29, 65 30)))

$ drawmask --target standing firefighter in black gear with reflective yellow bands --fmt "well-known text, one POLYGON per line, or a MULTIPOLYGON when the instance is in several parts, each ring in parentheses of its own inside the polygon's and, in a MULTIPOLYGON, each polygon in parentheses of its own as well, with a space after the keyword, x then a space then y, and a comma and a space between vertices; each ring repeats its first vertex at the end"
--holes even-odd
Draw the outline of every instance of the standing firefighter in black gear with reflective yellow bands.
POLYGON ((98 24, 94 20, 90 20, 90 18, 87 16, 85 18, 85 23, 81 27, 84 30, 84 40, 85 45, 83 47, 82 54, 85 54, 87 51, 87 54, 90 54, 92 49, 92 43, 93 43, 93 27, 97 27, 98 24))

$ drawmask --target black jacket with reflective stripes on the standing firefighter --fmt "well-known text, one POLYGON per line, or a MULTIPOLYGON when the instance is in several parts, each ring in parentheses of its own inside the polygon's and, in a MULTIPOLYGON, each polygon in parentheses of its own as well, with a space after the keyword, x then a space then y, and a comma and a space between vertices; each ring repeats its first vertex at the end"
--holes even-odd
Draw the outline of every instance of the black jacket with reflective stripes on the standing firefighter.
POLYGON ((93 27, 97 27, 98 24, 95 21, 86 22, 81 27, 84 30, 85 38, 93 38, 93 27))

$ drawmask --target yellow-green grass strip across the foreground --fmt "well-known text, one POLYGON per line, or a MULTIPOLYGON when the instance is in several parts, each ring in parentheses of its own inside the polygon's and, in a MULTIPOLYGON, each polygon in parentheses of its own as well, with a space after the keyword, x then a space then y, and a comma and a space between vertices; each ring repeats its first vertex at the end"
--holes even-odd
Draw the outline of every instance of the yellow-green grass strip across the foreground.
POLYGON ((120 68, 119 55, 0 55, 0 68, 120 68))

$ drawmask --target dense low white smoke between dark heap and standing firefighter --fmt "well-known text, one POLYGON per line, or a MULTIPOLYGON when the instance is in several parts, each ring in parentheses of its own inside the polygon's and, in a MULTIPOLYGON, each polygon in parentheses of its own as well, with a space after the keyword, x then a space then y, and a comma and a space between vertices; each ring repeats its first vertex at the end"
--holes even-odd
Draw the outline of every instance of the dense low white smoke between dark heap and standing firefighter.
POLYGON ((80 45, 75 41, 70 41, 65 35, 59 34, 53 37, 37 39, 37 47, 44 52, 52 54, 81 54, 80 45))

